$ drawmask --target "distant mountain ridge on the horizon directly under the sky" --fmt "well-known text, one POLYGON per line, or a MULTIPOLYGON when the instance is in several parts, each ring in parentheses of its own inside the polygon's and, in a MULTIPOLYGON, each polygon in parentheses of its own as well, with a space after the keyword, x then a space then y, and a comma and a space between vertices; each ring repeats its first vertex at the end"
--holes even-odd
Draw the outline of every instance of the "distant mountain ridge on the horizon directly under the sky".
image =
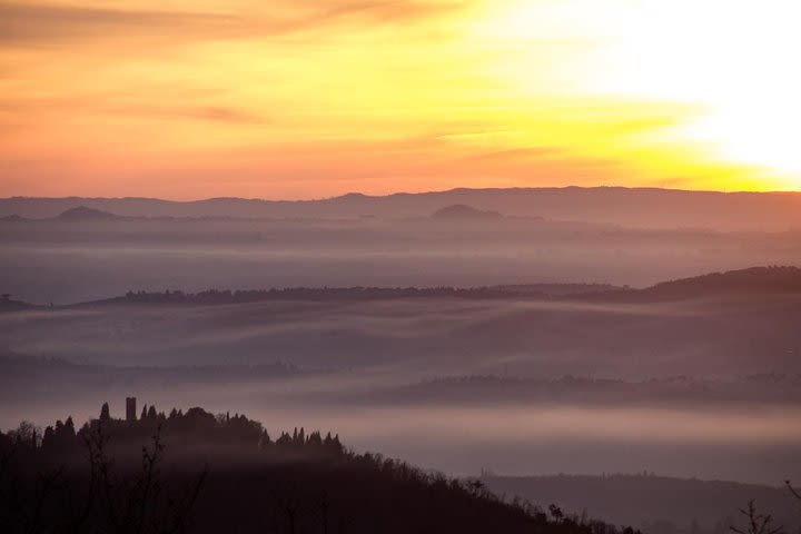
POLYGON ((771 230, 801 228, 799 192, 715 192, 653 188, 452 189, 388 196, 348 194, 319 200, 210 198, 194 201, 152 198, 0 199, 0 217, 51 218, 85 206, 126 217, 382 218, 429 217, 453 205, 514 217, 581 220, 643 228, 771 230))

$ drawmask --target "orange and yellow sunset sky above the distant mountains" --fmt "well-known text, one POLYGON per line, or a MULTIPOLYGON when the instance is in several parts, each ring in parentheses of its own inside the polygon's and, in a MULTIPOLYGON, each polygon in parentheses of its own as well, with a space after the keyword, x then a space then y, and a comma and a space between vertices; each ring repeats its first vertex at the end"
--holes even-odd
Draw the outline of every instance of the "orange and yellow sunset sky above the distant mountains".
POLYGON ((789 0, 0 0, 0 196, 801 189, 789 0))

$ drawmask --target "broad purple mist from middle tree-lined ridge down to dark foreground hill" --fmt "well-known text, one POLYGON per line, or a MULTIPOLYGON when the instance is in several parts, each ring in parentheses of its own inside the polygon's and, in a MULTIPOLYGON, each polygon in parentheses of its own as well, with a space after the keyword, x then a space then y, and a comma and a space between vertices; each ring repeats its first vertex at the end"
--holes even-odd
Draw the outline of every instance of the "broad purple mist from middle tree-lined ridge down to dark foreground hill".
POLYGON ((0 426, 126 396, 333 429, 453 474, 799 477, 789 295, 120 300, 0 314, 0 426), (56 359, 52 359, 56 358, 56 359), (4 400, 4 402, 3 402, 4 400), (795 472, 793 472, 795 469, 795 472))

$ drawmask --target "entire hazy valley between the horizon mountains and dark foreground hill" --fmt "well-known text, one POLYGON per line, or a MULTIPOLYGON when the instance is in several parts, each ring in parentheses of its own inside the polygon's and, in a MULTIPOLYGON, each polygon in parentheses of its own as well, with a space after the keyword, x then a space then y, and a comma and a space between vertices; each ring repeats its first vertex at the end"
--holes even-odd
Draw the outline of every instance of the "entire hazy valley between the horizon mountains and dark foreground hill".
POLYGON ((792 525, 801 270, 769 266, 801 264, 799 237, 461 205, 7 217, 0 428, 103 402, 122 417, 135 396, 336 432, 645 533, 723 532, 749 494, 792 525), (732 481, 730 514, 701 481, 732 481), (636 488, 715 504, 635 513, 620 500, 636 488))

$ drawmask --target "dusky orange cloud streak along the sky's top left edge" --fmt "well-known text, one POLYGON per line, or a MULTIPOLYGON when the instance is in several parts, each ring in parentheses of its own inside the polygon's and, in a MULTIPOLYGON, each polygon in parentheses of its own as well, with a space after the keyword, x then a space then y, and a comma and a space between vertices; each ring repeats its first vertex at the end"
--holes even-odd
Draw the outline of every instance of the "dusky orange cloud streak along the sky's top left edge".
POLYGON ((41 46, 97 39, 236 39, 320 30, 333 24, 407 23, 458 9, 432 1, 271 2, 256 10, 172 11, 142 8, 0 3, 0 43, 41 46))

